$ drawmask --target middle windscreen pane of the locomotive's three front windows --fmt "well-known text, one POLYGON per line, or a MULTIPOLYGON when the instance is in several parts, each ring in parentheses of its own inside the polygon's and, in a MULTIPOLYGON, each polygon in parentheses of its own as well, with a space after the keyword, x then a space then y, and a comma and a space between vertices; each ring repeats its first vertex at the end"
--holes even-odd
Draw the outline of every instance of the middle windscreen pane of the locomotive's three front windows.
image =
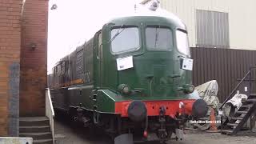
POLYGON ((173 34, 170 29, 160 27, 146 28, 146 47, 149 50, 171 50, 173 43, 173 34))

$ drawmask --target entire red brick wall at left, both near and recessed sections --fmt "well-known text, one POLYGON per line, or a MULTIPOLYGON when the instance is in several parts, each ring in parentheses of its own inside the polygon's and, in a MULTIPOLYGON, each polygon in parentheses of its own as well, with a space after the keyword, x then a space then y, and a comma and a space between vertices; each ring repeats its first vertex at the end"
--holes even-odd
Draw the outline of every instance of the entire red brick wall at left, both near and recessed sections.
POLYGON ((45 115, 47 19, 48 0, 0 0, 0 136, 45 115))

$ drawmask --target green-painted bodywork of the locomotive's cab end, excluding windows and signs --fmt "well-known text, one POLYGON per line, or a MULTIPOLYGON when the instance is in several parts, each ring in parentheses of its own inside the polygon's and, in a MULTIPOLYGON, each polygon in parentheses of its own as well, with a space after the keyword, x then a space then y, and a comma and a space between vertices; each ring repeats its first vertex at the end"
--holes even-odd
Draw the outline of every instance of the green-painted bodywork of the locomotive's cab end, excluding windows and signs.
MULTIPOLYGON (((114 102, 124 100, 171 100, 184 99, 186 94, 178 91, 184 84, 191 84, 191 71, 180 69, 180 58, 187 57, 178 52, 175 41, 175 30, 186 30, 174 19, 150 16, 117 18, 106 23, 94 36, 94 89, 97 89, 97 102, 86 96, 83 105, 93 110, 114 113, 114 102), (140 48, 126 54, 114 55, 110 52, 110 30, 114 26, 138 26, 140 48), (146 49, 146 26, 167 26, 174 34, 174 46, 170 51, 150 51, 146 49), (102 45, 98 43, 98 34, 102 33, 102 45), (116 59, 133 56, 134 67, 117 70, 116 59), (177 77, 178 76, 178 77, 177 77), (151 86, 150 86, 151 83, 151 86), (142 90, 141 93, 122 95, 118 85, 127 84, 131 90, 142 90), (150 88, 151 87, 151 88, 150 88)), ((88 92, 85 91, 87 95, 88 92)), ((83 94, 83 95, 85 95, 83 94)), ((90 97, 92 94, 90 94, 90 97)))

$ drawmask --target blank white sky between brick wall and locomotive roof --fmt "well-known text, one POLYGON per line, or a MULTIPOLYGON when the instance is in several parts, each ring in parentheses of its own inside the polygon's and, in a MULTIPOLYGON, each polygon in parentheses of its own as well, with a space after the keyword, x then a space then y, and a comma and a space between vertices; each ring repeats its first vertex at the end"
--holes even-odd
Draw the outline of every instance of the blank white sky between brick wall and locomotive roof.
POLYGON ((130 13, 141 0, 50 0, 48 73, 58 60, 94 36, 110 18, 130 13))

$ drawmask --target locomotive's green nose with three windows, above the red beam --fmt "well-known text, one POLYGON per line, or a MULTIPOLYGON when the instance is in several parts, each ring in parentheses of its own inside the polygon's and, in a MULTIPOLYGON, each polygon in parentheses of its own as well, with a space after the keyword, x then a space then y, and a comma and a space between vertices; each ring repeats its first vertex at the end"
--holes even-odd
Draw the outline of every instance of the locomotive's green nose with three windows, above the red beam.
POLYGON ((103 49, 111 62, 105 70, 115 75, 111 78, 116 82, 114 89, 126 85, 130 92, 165 98, 179 96, 178 89, 190 83, 190 71, 180 69, 182 59, 190 58, 183 24, 141 16, 118 18, 106 25, 106 29, 109 41, 103 49))

